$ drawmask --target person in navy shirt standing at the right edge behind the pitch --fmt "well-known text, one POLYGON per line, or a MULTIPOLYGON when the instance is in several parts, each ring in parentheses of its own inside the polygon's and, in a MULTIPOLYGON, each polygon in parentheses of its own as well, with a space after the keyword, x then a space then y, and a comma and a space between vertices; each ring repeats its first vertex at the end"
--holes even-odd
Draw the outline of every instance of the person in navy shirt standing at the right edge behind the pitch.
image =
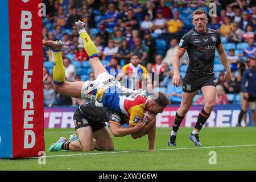
MULTIPOLYGON (((243 72, 242 76, 242 91, 245 100, 242 104, 242 109, 238 117, 238 126, 241 126, 242 117, 246 114, 250 102, 256 104, 256 59, 251 58, 249 61, 249 69, 243 72)), ((245 121, 246 122, 246 121, 245 121)), ((254 121, 255 122, 255 121, 254 121)), ((255 125, 255 123, 253 123, 255 125)))

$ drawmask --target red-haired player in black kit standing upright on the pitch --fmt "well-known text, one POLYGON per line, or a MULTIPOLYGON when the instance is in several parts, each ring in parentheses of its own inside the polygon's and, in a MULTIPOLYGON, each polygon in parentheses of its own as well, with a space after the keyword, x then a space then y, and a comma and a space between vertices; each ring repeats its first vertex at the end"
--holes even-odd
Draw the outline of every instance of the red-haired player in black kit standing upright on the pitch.
POLYGON ((205 105, 198 116, 192 133, 189 135, 189 140, 195 143, 196 146, 201 146, 198 133, 209 118, 215 105, 216 79, 213 72, 215 49, 217 49, 221 63, 226 69, 224 82, 229 82, 231 77, 228 58, 222 47, 220 35, 218 35, 217 31, 207 28, 207 13, 201 9, 195 10, 192 18, 195 28, 181 38, 174 55, 172 85, 179 86, 181 84, 179 59, 185 51, 188 52, 189 65, 182 84, 182 101, 175 115, 168 146, 176 146, 177 130, 199 89, 203 93, 205 105))

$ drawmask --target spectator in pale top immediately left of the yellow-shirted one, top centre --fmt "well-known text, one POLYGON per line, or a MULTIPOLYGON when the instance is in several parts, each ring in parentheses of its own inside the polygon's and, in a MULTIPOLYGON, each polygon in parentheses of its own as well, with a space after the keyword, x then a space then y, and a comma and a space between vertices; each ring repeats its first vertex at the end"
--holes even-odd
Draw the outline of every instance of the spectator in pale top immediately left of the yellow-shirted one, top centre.
POLYGON ((163 34, 166 32, 167 19, 163 18, 163 11, 158 10, 156 14, 157 18, 153 21, 153 27, 151 28, 155 34, 163 34))

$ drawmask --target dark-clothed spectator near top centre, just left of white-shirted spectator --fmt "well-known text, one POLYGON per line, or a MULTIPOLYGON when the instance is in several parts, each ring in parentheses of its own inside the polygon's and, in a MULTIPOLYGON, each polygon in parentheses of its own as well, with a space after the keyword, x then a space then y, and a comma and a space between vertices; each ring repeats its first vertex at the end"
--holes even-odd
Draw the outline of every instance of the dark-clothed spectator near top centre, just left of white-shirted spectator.
POLYGON ((127 16, 122 19, 121 27, 131 26, 133 30, 139 30, 139 20, 133 10, 128 10, 127 16))

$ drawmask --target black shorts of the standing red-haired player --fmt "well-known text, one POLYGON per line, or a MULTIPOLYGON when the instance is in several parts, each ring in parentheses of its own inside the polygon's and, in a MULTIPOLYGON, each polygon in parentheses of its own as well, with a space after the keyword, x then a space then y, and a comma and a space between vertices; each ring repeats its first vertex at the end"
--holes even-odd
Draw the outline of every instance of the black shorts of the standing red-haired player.
POLYGON ((209 85, 216 87, 216 78, 214 74, 196 76, 186 74, 182 83, 182 91, 186 93, 192 93, 196 90, 201 90, 203 86, 209 85))

